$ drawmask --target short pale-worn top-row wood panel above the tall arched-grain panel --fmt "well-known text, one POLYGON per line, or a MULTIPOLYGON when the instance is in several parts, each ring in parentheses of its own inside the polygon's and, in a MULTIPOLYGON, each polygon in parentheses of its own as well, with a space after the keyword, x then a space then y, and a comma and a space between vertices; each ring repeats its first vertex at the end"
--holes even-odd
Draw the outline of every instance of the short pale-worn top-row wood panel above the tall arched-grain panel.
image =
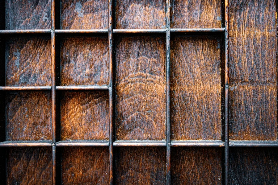
POLYGON ((161 0, 116 0, 116 29, 164 29, 165 2, 161 0))

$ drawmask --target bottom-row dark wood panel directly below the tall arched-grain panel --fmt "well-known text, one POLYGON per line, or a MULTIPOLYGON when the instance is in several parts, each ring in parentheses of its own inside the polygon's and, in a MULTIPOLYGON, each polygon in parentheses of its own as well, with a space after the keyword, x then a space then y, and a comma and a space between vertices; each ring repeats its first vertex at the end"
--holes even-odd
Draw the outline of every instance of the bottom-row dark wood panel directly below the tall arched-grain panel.
POLYGON ((164 147, 116 148, 116 184, 166 184, 165 157, 166 148, 164 147))

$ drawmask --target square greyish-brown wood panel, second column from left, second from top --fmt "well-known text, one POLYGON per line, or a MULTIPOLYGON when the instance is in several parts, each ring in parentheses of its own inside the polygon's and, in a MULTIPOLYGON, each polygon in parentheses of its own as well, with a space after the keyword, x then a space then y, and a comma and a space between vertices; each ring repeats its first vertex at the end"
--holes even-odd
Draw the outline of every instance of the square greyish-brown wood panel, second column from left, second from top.
POLYGON ((108 39, 66 37, 61 43, 61 85, 107 85, 108 39))

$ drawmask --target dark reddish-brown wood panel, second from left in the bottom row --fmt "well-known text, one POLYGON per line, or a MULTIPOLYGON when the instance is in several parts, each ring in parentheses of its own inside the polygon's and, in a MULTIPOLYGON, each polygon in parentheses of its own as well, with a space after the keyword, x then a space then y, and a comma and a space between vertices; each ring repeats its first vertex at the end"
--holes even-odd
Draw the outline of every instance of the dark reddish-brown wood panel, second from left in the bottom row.
POLYGON ((109 184, 108 163, 108 147, 62 148, 61 184, 109 184))

